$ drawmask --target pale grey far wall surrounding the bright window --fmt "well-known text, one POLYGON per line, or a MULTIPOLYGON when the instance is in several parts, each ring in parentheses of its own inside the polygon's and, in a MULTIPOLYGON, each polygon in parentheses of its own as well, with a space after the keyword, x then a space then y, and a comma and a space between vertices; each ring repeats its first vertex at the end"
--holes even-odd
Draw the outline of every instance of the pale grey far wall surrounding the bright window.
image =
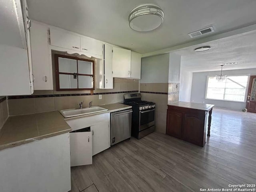
MULTIPOLYGON (((214 104, 216 107, 231 109, 231 110, 239 110, 240 111, 243 108, 245 108, 246 102, 232 102, 232 101, 205 99, 207 76, 216 75, 219 73, 220 73, 219 71, 193 73, 190 101, 196 102, 196 103, 204 102, 207 104, 214 104)), ((242 70, 225 70, 225 71, 223 71, 223 74, 227 74, 227 75, 236 75, 236 74, 256 75, 256 68, 242 69, 242 70)))

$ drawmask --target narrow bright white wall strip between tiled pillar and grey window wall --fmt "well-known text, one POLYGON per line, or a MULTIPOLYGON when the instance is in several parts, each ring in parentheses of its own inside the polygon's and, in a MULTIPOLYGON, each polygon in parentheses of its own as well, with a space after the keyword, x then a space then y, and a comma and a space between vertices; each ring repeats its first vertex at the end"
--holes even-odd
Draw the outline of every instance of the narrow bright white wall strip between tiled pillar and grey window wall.
POLYGON ((180 69, 180 96, 179 101, 190 102, 193 73, 180 69))

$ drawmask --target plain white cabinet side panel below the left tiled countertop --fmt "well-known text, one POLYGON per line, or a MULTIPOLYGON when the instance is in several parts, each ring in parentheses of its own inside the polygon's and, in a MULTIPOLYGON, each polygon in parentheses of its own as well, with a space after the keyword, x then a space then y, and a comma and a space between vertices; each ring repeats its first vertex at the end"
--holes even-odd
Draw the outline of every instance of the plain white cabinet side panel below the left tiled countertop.
POLYGON ((1 192, 68 192, 69 133, 0 151, 1 192))

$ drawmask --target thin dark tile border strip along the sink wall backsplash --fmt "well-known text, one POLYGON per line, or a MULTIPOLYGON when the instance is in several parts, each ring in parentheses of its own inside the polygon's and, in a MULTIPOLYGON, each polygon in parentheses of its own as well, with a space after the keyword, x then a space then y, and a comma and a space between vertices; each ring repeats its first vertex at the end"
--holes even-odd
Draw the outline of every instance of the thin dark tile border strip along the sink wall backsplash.
MULTIPOLYGON (((118 94, 118 93, 133 93, 135 91, 119 91, 119 92, 104 92, 104 93, 74 93, 74 94, 49 94, 49 95, 22 95, 22 96, 8 96, 8 99, 25 99, 25 98, 41 98, 41 97, 65 97, 65 96, 86 96, 86 95, 106 95, 106 94, 118 94)), ((6 98, 5 98, 6 99, 6 98)))

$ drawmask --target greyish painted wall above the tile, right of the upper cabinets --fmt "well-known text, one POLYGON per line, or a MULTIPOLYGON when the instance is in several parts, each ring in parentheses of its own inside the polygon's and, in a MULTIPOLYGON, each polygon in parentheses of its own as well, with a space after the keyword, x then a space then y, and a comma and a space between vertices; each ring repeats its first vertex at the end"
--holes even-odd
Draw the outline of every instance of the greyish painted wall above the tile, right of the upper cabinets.
POLYGON ((141 60, 140 83, 168 83, 169 54, 162 54, 141 60))

